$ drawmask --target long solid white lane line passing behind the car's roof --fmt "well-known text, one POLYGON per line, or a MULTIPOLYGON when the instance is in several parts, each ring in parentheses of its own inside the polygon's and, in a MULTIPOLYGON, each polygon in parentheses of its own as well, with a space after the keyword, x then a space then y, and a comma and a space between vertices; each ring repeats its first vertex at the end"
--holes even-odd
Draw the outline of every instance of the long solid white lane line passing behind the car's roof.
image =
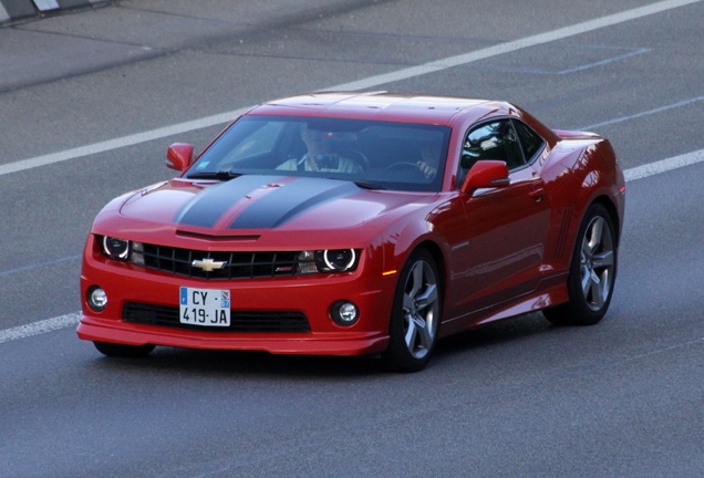
MULTIPOLYGON (((494 46, 476 50, 474 52, 459 54, 455 56, 448 56, 446 59, 428 62, 417 66, 411 66, 407 69, 398 70, 391 73, 384 73, 375 76, 370 76, 359 81, 349 83, 342 83, 335 86, 325 89, 324 91, 333 90, 363 90, 370 87, 376 87, 385 83, 396 82, 401 80, 407 80, 411 77, 424 75, 427 73, 439 72, 455 66, 466 65, 479 60, 486 60, 493 56, 497 56, 504 53, 515 52, 529 46, 536 46, 539 44, 552 42, 556 40, 563 40, 570 37, 576 37, 582 33, 599 30, 605 27, 612 27, 619 23, 623 23, 630 20, 636 20, 643 17, 661 13, 663 11, 672 10, 679 7, 684 7, 692 3, 701 2, 702 0, 664 0, 650 6, 640 7, 631 10, 627 10, 620 13, 601 17, 594 20, 577 23, 570 27, 552 30, 545 33, 539 33, 531 37, 509 41, 506 43, 497 44, 494 46)), ((0 165, 0 176, 10 173, 18 173, 25 169, 46 166, 54 163, 61 163, 70 159, 75 159, 83 156, 89 156, 97 153, 104 153, 112 149, 118 149, 126 146, 136 145, 154 139, 164 138, 167 136, 174 136, 180 133, 191 132, 196 129, 203 129, 219 124, 225 124, 234 121, 249 110, 249 107, 238 108, 227 113, 220 113, 213 116, 203 117, 185 123, 178 123, 170 126, 164 126, 156 129, 151 129, 144 133, 137 133, 134 135, 123 136, 116 139, 108 139, 101 143, 95 143, 87 146, 81 146, 77 148, 66 149, 59 153, 52 153, 43 156, 37 156, 33 158, 22 159, 6 165, 0 165)))

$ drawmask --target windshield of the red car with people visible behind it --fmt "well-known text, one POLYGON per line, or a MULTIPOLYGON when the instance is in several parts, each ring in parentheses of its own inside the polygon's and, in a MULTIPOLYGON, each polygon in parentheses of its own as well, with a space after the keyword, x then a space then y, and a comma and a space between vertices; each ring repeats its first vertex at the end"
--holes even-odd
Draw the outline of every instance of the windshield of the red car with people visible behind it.
POLYGON ((447 126, 244 116, 206 149, 188 178, 266 174, 344 179, 373 189, 438 191, 447 126))

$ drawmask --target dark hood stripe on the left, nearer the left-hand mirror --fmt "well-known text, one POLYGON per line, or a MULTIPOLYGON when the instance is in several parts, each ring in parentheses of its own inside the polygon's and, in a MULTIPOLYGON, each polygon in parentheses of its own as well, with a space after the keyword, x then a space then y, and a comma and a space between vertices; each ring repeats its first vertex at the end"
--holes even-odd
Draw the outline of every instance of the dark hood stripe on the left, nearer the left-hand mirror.
POLYGON ((240 176, 209 186, 180 208, 174 222, 211 228, 237 200, 278 178, 279 176, 240 176))

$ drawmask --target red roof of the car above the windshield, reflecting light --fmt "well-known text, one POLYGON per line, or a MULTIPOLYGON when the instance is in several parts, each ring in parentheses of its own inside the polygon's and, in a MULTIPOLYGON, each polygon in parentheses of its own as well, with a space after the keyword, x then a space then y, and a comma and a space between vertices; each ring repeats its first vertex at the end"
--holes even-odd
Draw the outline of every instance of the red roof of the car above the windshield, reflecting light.
POLYGON ((348 117, 451 125, 458 116, 509 114, 515 106, 487 100, 387 92, 322 92, 275 100, 252 108, 255 115, 348 117))

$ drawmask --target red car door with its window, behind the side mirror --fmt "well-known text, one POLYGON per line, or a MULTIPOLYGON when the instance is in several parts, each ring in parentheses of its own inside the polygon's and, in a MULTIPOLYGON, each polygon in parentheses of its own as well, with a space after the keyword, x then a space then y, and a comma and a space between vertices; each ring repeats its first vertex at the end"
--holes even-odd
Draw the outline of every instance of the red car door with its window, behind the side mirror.
POLYGON ((463 154, 470 154, 475 162, 506 160, 513 170, 508 186, 477 189, 463 199, 466 237, 453 248, 448 319, 499 305, 539 283, 550 204, 538 172, 525 164, 515 147, 519 148, 518 141, 508 121, 486 124, 467 135, 463 154))

